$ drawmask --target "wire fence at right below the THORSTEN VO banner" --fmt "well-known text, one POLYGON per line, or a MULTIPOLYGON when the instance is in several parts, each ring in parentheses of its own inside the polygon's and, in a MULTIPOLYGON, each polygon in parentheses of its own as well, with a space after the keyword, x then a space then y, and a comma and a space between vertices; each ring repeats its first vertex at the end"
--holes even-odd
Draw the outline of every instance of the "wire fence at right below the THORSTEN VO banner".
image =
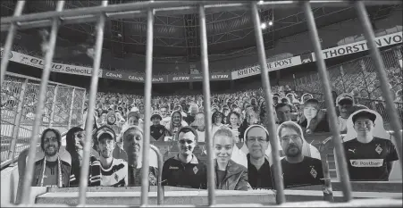
MULTIPOLYGON (((389 87, 394 94, 402 89, 401 83, 403 83, 403 71, 399 65, 399 60, 402 59, 401 50, 402 46, 396 46, 382 51, 385 72, 390 80, 389 87)), ((382 100, 380 81, 376 77, 374 60, 370 55, 329 67, 327 72, 332 90, 337 94, 352 93, 360 98, 382 100)), ((315 72, 289 80, 288 84, 298 91, 322 93, 318 78, 319 74, 315 72)), ((396 95, 393 96, 397 98, 396 95)))

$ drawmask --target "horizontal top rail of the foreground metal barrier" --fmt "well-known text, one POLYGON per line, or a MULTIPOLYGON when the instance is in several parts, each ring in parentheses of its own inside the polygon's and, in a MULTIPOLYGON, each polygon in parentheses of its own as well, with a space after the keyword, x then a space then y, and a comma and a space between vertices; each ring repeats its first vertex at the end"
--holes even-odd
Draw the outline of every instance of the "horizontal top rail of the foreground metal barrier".
MULTIPOLYGON (((169 2, 164 3, 166 6, 164 8, 155 8, 155 14, 157 15, 184 15, 190 13, 197 13, 197 4, 198 2, 202 2, 205 4, 206 12, 222 12, 222 11, 242 11, 242 10, 249 10, 248 3, 230 3, 230 4, 216 4, 214 2, 204 2, 204 1, 183 1, 181 3, 169 2), (177 6, 177 4, 182 4, 177 6)), ((347 0, 340 0, 340 1, 331 1, 325 3, 326 1, 311 1, 311 4, 315 6, 348 6, 350 3, 347 0)), ((44 28, 49 27, 51 25, 50 17, 55 16, 61 18, 62 25, 69 25, 69 24, 80 24, 80 23, 88 23, 88 22, 95 22, 97 21, 97 15, 100 12, 105 11, 106 16, 110 20, 119 20, 119 19, 132 19, 132 18, 139 18, 139 17, 147 17, 147 11, 144 10, 147 8, 145 3, 136 3, 136 4, 113 4, 112 9, 108 8, 100 8, 98 6, 93 7, 83 7, 74 10, 65 10, 65 12, 38 12, 35 15, 40 15, 38 18, 34 14, 25 14, 18 19, 17 17, 5 17, 1 20, 1 31, 7 31, 10 28, 10 24, 13 21, 18 22, 19 29, 33 29, 33 28, 44 28), (141 4, 141 5, 138 5, 141 4), (117 8, 115 8, 117 7, 117 8), (119 11, 118 9, 124 10, 119 11), (143 10, 142 10, 143 9, 143 10), (78 16, 80 15, 80 16, 78 16), (49 20, 46 20, 49 19, 49 20)), ((148 7, 154 8, 159 7, 160 4, 154 5, 152 3, 148 7)), ((402 4, 401 1, 394 1, 394 0, 385 0, 385 1, 365 1, 366 5, 396 5, 402 4)), ((290 8, 290 7, 298 7, 298 1, 281 1, 281 2, 264 2, 263 4, 258 4, 259 9, 273 9, 273 8, 290 8)))

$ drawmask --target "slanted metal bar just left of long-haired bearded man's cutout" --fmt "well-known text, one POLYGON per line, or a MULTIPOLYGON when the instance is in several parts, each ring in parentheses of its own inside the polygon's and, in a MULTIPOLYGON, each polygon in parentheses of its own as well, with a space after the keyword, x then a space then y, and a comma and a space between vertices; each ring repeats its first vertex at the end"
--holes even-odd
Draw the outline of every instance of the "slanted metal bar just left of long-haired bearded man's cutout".
MULTIPOLYGON (((61 12, 63 10, 64 1, 58 1, 56 5, 56 11, 61 12)), ((45 54, 45 63, 44 63, 44 71, 42 72, 42 78, 39 88, 39 98, 38 98, 38 105, 37 105, 37 112, 35 113, 35 121, 34 126, 32 129, 32 136, 30 140, 29 146, 29 153, 28 153, 28 162, 27 167, 25 170, 25 180, 22 184, 22 204, 30 204, 30 189, 31 183, 33 178, 33 171, 34 171, 34 160, 35 154, 37 152, 37 143, 39 138, 39 126, 42 122, 42 109, 44 108, 45 104, 45 97, 46 97, 46 87, 47 81, 49 80, 49 75, 52 67, 52 59, 55 54, 55 45, 56 45, 56 37, 57 37, 57 30, 59 29, 59 19, 55 18, 53 20, 52 29, 50 32, 48 48, 45 54)))

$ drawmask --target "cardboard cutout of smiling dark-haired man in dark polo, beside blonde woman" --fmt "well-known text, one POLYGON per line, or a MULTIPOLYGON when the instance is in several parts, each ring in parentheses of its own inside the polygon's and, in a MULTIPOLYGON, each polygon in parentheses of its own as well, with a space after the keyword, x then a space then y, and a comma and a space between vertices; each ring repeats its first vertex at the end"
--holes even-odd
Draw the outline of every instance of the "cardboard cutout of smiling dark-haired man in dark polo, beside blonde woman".
POLYGON ((183 127, 178 133, 179 154, 164 162, 163 186, 206 189, 206 164, 197 160, 193 151, 197 146, 197 132, 183 127))

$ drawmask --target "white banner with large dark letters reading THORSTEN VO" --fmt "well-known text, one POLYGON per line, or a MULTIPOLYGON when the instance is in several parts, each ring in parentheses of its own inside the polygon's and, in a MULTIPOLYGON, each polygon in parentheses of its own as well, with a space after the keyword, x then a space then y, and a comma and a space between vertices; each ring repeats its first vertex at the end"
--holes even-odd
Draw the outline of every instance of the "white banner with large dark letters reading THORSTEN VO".
MULTIPOLYGON (((375 43, 378 47, 383 46, 392 46, 395 44, 402 43, 402 36, 403 32, 397 32, 390 35, 382 36, 382 37, 375 37, 375 43)), ((338 57, 340 55, 346 54, 355 54, 359 52, 363 52, 368 50, 368 46, 366 45, 366 40, 358 41, 356 43, 344 45, 344 46, 337 46, 332 47, 329 49, 322 50, 324 59, 330 59, 334 57, 338 57)), ((315 53, 312 53, 315 61, 315 53)))

